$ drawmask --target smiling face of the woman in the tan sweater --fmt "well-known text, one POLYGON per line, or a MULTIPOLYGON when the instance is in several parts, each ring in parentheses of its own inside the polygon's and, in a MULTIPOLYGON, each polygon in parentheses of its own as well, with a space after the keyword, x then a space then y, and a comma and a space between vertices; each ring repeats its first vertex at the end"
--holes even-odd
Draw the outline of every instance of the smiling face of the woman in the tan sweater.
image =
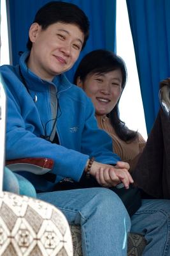
POLYGON ((77 84, 92 99, 97 115, 107 115, 122 93, 122 72, 117 69, 104 74, 89 74, 83 82, 78 78, 77 84))

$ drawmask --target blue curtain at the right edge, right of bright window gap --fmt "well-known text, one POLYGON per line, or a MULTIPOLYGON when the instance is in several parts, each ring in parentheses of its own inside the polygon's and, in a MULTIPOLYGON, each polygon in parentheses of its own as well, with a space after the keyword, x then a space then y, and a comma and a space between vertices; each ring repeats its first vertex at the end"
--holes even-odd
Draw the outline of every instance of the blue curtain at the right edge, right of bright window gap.
POLYGON ((146 127, 159 109, 159 82, 170 76, 170 1, 127 0, 146 127))

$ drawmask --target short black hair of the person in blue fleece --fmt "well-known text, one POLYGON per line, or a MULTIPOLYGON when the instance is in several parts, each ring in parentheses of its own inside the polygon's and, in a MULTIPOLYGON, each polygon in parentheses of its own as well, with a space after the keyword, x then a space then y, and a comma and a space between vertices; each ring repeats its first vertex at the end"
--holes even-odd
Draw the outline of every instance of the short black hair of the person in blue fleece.
MULTIPOLYGON (((44 30, 56 22, 77 25, 84 34, 82 49, 85 47, 87 39, 89 38, 89 19, 75 4, 61 1, 49 2, 38 10, 33 23, 34 22, 37 22, 44 30)), ((31 51, 31 48, 32 42, 28 39, 27 49, 31 51)))

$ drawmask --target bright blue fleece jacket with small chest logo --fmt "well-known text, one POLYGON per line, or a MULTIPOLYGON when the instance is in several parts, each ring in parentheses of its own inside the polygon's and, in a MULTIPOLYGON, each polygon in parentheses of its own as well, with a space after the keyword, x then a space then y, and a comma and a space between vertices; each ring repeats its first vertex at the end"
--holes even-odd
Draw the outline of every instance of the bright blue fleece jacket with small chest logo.
MULTIPOLYGON (((112 152, 111 138, 97 128, 94 107, 83 90, 69 83, 64 74, 56 76, 52 82, 43 81, 27 68, 28 54, 24 52, 20 57, 20 71, 29 92, 22 83, 19 65, 0 67, 8 101, 6 159, 50 157, 54 160, 51 172, 57 175, 55 182, 62 177, 80 180, 91 156, 101 163, 117 163, 120 158, 112 152), (55 99, 58 100, 59 145, 40 138, 45 130, 48 135, 52 133, 55 99)), ((44 173, 22 174, 39 191, 49 191, 54 186, 45 179, 44 173)))

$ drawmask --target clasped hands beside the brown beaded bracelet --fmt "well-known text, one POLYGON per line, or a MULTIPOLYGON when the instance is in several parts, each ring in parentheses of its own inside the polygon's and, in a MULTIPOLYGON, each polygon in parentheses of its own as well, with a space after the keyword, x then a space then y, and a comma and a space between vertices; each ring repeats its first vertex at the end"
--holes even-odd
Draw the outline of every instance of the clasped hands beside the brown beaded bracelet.
POLYGON ((94 161, 90 174, 105 188, 117 186, 117 184, 122 182, 125 188, 128 189, 129 184, 134 182, 128 170, 129 164, 122 161, 118 161, 115 166, 94 161))

